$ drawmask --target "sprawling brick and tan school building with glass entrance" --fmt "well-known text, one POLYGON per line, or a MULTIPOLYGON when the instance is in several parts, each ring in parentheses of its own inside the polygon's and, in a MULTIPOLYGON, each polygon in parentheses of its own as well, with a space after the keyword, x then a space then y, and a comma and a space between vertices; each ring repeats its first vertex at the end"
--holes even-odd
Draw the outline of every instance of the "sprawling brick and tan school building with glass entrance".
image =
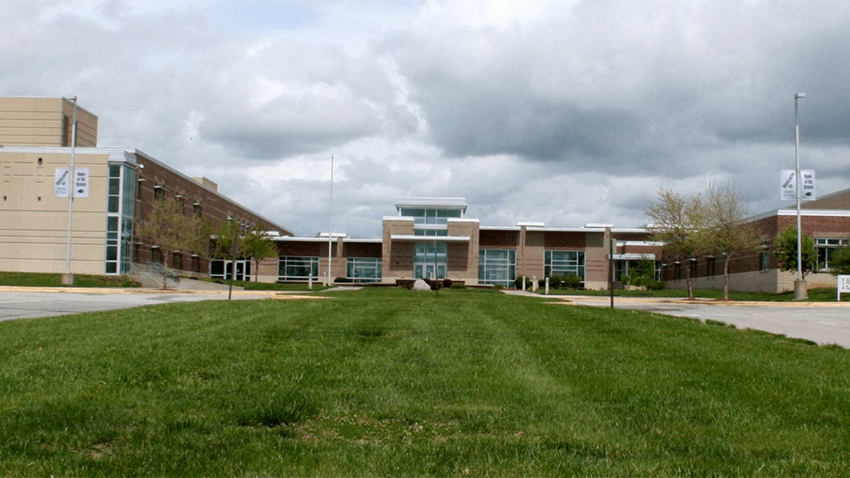
MULTIPOLYGON (((181 276, 382 284, 436 277, 503 287, 522 276, 577 276, 583 287, 606 289, 612 278, 619 282, 638 263, 652 261, 668 287, 684 287, 685 268, 695 287, 723 284, 722 258, 668 258, 646 227, 481 225, 460 197, 398 198, 394 209, 388 205, 380 237, 294 236, 220 194, 209 179, 190 178, 137 149, 99 147, 98 118, 76 101, 0 98, 0 270, 64 273, 70 260, 78 274, 156 271, 161 251, 136 231, 159 199, 173 199, 185 214, 213 224, 263 224, 278 248, 279 256, 264 259, 257 270, 250 258, 174 253, 168 262, 181 276)), ((779 271, 771 244, 795 216, 780 208, 751 218, 765 244, 731 261, 735 290, 793 290, 795 275, 779 271)), ((833 286, 830 252, 850 243, 850 190, 805 203, 802 228, 815 238, 820 258, 819 271, 807 277, 809 287, 833 286)))

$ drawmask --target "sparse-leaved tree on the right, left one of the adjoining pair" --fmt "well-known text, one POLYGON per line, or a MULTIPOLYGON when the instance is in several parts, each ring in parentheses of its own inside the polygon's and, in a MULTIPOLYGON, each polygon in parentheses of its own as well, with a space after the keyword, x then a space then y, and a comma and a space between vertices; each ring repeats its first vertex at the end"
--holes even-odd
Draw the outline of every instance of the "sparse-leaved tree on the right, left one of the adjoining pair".
MULTIPOLYGON (((706 242, 706 214, 702 197, 681 196, 669 189, 658 191, 658 201, 646 209, 652 224, 653 238, 663 242, 664 248, 678 259, 689 262, 694 255, 708 248, 706 242)), ((689 299, 694 299, 690 265, 685 267, 685 284, 689 299)))

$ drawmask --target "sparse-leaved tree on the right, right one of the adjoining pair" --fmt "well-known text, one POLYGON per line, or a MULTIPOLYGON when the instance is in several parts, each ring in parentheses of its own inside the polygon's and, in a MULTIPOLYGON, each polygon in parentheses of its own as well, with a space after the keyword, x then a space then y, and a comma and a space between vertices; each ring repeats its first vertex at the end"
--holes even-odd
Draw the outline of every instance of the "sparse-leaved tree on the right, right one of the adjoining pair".
POLYGON ((709 183, 703 201, 706 214, 706 246, 723 255, 723 299, 729 299, 729 260, 762 245, 756 228, 746 222, 746 207, 730 185, 709 183))

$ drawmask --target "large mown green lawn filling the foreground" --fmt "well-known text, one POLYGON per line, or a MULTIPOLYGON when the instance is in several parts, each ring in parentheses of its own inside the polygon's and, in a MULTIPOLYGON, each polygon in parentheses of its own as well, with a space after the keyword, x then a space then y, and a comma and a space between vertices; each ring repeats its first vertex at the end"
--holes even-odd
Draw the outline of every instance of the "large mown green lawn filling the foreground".
POLYGON ((326 295, 0 322, 0 475, 847 475, 847 350, 485 291, 326 295))

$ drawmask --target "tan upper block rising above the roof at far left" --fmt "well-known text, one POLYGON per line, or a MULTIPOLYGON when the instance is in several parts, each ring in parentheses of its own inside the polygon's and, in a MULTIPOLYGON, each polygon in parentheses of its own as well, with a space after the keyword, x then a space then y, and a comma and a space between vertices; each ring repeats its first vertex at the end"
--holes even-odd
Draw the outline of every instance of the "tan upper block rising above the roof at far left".
MULTIPOLYGON (((0 145, 70 146, 73 103, 62 98, 0 98, 0 145), (63 117, 67 129, 63 128, 63 117)), ((77 146, 98 142, 98 117, 77 105, 77 146)))

